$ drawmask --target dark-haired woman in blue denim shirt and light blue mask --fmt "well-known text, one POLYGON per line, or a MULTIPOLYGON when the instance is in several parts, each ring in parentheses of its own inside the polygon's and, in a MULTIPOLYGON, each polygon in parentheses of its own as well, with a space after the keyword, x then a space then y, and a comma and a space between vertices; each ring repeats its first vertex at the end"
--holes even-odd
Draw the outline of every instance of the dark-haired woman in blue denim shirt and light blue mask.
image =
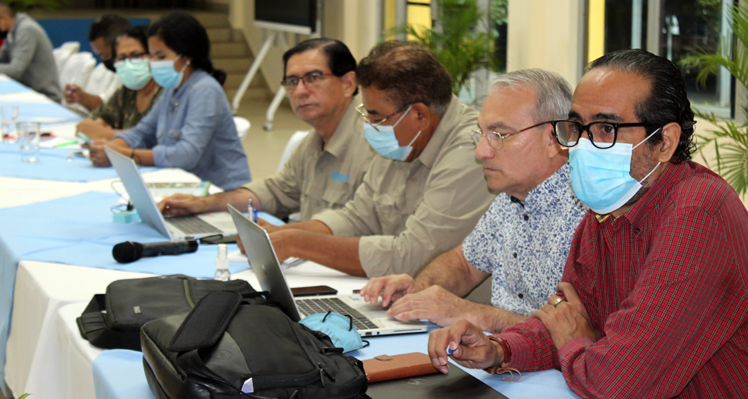
POLYGON ((130 130, 86 146, 96 166, 111 165, 103 145, 140 165, 183 168, 224 190, 251 181, 221 84, 226 73, 210 61, 208 34, 187 13, 169 13, 148 28, 153 80, 165 88, 153 109, 130 130))

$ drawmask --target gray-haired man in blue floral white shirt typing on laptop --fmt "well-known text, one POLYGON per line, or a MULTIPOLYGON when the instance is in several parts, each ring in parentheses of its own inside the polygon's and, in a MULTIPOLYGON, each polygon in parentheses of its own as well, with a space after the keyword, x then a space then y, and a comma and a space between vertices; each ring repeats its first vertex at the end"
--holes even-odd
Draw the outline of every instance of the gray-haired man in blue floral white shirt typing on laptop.
POLYGON ((484 331, 520 323, 556 292, 571 238, 586 213, 571 189, 568 153, 551 121, 565 118, 571 87, 557 73, 518 70, 491 84, 473 130, 494 199, 473 232, 415 278, 373 278, 361 290, 399 320, 439 326, 463 318, 484 331), (460 298, 492 276, 491 305, 460 298))

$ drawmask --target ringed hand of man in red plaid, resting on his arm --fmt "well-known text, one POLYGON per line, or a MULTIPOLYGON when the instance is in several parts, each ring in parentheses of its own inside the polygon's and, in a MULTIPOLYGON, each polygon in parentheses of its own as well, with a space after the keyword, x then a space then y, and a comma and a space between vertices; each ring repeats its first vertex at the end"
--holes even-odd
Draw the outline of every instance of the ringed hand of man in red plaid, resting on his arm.
POLYGON ((587 337, 597 342, 602 334, 592 328, 587 309, 577 294, 577 290, 567 282, 559 283, 557 293, 548 299, 548 303, 533 312, 545 324, 556 349, 560 350, 572 338, 587 337))

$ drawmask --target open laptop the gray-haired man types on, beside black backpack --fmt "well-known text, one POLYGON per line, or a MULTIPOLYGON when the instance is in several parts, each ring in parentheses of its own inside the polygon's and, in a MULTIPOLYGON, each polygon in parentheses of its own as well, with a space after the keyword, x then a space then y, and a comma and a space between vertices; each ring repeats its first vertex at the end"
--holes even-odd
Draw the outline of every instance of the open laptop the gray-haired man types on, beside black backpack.
POLYGON ((429 329, 420 320, 401 321, 388 317, 381 305, 372 305, 358 294, 295 299, 283 275, 268 233, 230 204, 228 210, 244 244, 249 264, 260 281, 260 287, 272 294, 273 299, 281 304, 283 311, 292 320, 298 321, 310 314, 327 311, 349 314, 362 337, 426 332, 429 329))

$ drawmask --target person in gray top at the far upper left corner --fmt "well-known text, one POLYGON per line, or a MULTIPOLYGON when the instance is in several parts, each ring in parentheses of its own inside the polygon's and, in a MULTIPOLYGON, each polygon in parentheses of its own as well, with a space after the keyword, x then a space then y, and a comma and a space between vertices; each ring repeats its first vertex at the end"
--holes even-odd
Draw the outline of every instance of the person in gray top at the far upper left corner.
POLYGON ((31 16, 15 13, 0 1, 0 31, 8 32, 0 48, 0 73, 59 103, 60 77, 44 29, 31 16))

